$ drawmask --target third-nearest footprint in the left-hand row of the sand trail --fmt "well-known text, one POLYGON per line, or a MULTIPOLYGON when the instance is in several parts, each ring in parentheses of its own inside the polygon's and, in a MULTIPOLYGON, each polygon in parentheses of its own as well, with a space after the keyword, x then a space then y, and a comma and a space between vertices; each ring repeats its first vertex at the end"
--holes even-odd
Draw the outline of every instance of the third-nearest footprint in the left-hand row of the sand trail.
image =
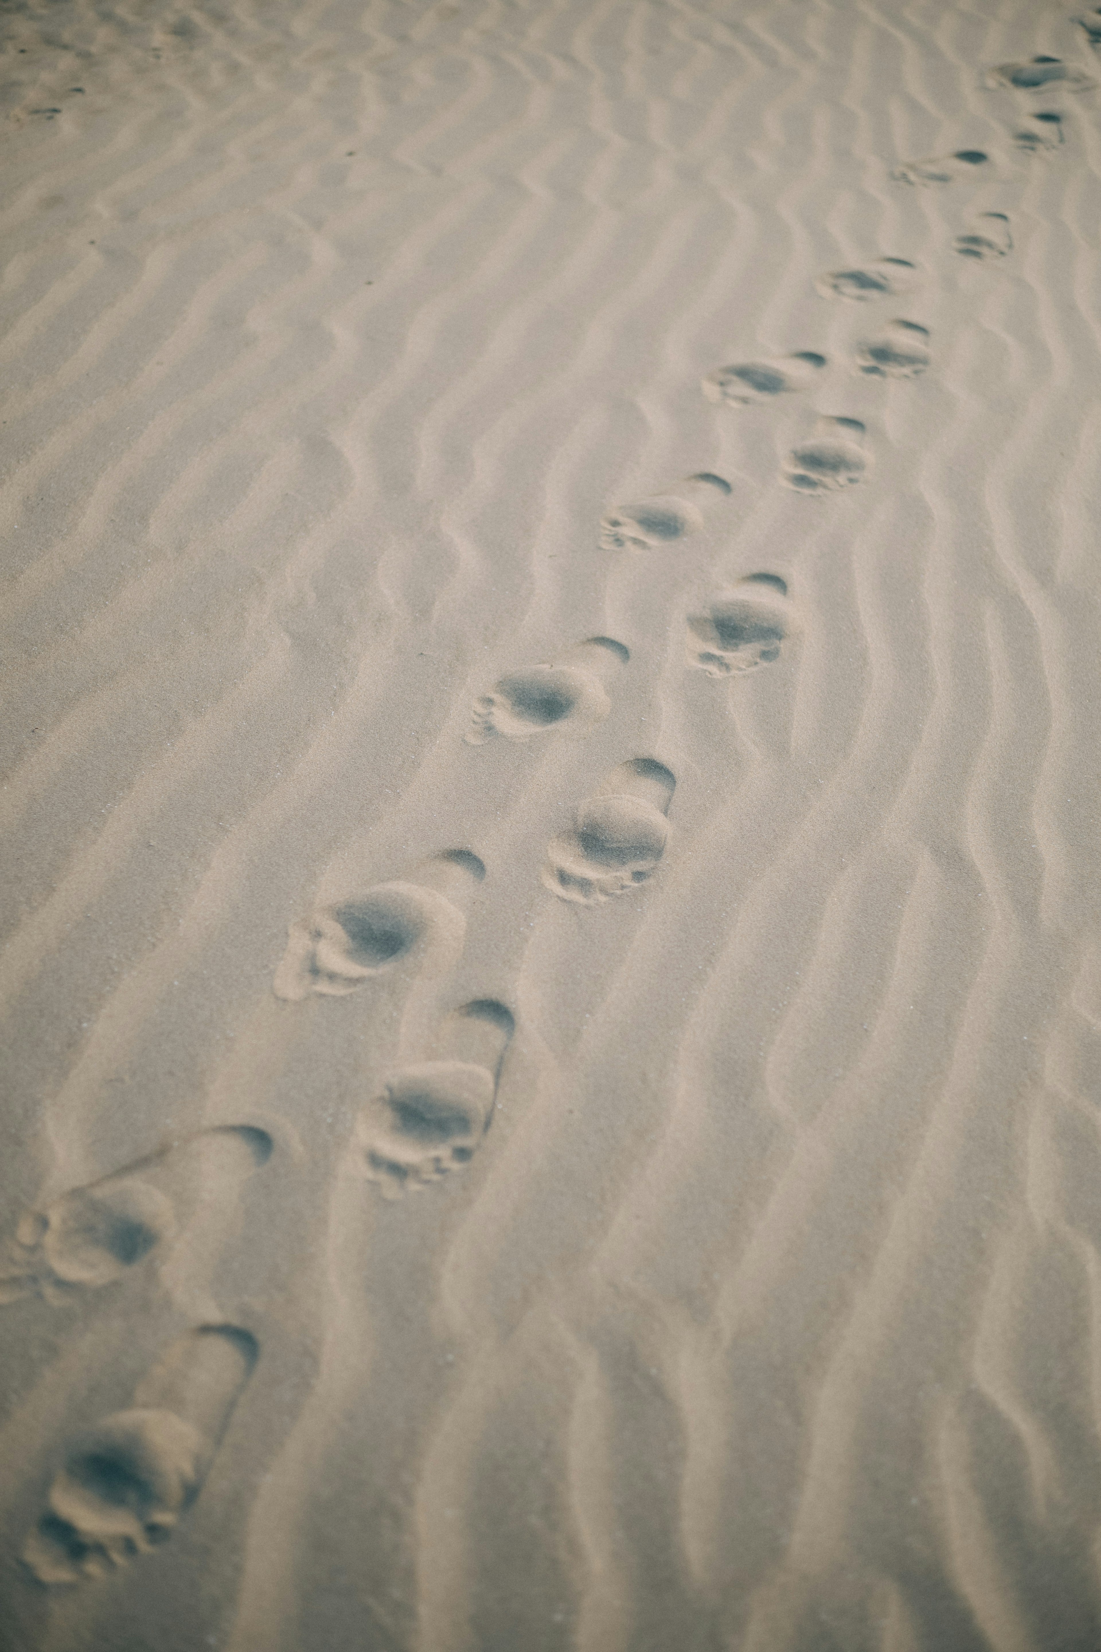
POLYGON ((607 679, 631 659, 631 651, 611 636, 591 636, 571 648, 556 666, 533 666, 499 677, 489 694, 474 702, 469 745, 495 735, 530 740, 533 733, 565 729, 588 733, 611 707, 607 679))

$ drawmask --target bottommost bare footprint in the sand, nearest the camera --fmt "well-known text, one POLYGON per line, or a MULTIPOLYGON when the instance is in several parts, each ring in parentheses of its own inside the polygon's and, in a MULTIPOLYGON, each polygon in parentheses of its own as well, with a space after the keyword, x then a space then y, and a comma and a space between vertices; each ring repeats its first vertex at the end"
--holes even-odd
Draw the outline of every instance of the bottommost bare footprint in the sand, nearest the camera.
POLYGON ((248 1332, 200 1325, 142 1378, 129 1411, 74 1441, 23 1548, 40 1583, 102 1578, 172 1536, 203 1488, 256 1358, 248 1332))

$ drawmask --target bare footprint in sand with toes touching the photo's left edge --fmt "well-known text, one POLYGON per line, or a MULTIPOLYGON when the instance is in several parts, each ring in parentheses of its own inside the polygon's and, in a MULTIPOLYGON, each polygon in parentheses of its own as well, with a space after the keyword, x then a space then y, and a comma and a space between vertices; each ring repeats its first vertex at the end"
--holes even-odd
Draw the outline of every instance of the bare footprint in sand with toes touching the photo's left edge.
POLYGON ((271 1153, 266 1130, 218 1125, 25 1211, 0 1260, 0 1303, 40 1295, 59 1307, 114 1284, 172 1242, 193 1189, 239 1181, 271 1153))

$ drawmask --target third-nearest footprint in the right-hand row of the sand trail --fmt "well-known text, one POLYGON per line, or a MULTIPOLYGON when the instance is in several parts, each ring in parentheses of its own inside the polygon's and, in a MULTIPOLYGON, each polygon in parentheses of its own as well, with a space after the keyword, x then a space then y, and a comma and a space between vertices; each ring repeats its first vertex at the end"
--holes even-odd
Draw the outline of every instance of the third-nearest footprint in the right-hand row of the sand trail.
POLYGON ((669 839, 669 805, 677 781, 664 763, 636 757, 619 763, 588 798, 569 831, 546 849, 543 884, 563 900, 596 905, 644 884, 669 839))

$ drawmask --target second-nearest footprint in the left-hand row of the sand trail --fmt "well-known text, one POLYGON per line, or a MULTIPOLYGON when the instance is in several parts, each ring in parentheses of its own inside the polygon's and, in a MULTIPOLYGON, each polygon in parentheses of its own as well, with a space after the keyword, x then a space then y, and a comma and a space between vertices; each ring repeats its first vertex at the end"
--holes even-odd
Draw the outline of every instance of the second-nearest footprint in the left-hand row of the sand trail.
POLYGON ((429 935, 462 942, 462 902, 485 877, 469 849, 447 849, 413 869, 409 879, 378 884, 365 895, 317 907, 291 925, 276 970, 276 998, 297 1003, 310 993, 343 998, 406 958, 429 935))

